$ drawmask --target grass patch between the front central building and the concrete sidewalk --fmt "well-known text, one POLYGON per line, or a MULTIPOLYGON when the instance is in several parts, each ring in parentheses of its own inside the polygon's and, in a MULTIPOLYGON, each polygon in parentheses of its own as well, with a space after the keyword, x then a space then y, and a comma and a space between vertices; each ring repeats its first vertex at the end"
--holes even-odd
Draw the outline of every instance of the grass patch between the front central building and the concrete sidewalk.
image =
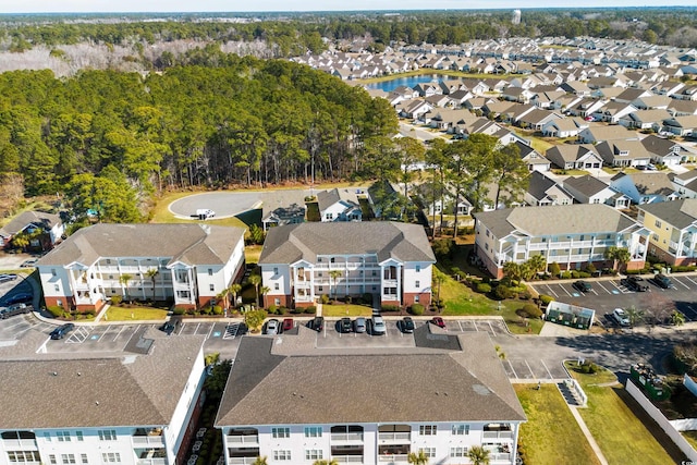
POLYGON ((526 465, 600 464, 554 384, 514 384, 527 415, 518 446, 526 465))

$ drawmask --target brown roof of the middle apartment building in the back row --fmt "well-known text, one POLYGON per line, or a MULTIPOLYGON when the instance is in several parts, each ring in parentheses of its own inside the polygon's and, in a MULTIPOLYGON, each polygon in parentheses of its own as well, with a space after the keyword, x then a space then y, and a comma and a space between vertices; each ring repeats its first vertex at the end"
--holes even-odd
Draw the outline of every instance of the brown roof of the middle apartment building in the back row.
POLYGON ((380 261, 431 261, 424 228, 392 221, 302 223, 272 228, 259 264, 315 262, 317 255, 377 254, 380 261))

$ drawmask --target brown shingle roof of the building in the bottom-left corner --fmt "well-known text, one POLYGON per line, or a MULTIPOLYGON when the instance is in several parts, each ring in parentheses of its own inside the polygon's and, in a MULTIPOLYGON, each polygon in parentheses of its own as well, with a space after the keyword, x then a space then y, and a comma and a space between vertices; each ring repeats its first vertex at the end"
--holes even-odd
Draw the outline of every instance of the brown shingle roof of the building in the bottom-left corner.
POLYGON ((168 425, 204 338, 154 338, 121 358, 0 360, 0 429, 168 425))

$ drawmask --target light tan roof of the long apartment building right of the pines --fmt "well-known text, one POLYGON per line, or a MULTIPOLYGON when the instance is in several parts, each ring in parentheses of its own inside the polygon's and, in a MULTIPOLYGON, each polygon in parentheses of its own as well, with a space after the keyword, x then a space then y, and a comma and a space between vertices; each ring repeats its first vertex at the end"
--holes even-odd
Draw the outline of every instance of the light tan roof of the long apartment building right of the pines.
POLYGON ((504 237, 514 231, 531 236, 610 233, 624 231, 636 224, 632 218, 602 204, 516 207, 474 216, 496 237, 504 237))

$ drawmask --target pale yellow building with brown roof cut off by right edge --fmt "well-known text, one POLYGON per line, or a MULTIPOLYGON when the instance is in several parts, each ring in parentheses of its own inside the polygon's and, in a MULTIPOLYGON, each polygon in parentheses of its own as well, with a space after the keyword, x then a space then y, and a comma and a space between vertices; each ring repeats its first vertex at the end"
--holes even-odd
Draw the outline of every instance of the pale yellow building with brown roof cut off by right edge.
POLYGON ((638 221, 651 232, 649 254, 672 266, 697 265, 697 199, 639 206, 638 221))

